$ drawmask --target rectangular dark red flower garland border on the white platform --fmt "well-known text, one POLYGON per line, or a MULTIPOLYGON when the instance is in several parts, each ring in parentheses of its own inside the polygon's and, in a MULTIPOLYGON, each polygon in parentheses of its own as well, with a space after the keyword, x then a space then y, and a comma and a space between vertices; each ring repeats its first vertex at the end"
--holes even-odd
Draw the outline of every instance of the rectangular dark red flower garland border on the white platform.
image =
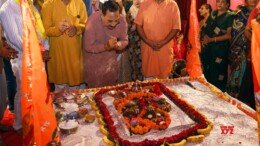
MULTIPOLYGON (((102 102, 102 95, 106 92, 108 92, 111 89, 124 89, 127 86, 118 86, 115 88, 110 88, 110 89, 101 89, 98 93, 95 95, 95 101, 97 103, 97 106, 99 107, 99 110, 101 114, 103 115, 103 120, 106 123, 106 128, 108 129, 109 132, 109 139, 118 143, 119 145, 125 145, 125 146, 131 146, 131 145, 144 145, 144 146, 150 146, 150 145, 162 145, 165 142, 167 143, 177 143, 182 141, 183 139, 188 138, 189 136, 196 135, 198 134, 197 130, 198 129, 203 129, 208 126, 208 122, 206 118, 201 115, 199 112, 197 112, 191 105, 187 104, 184 100, 178 97, 178 95, 172 91, 170 91, 167 87, 165 87, 163 84, 158 83, 158 82, 148 82, 148 83, 140 83, 142 86, 149 86, 149 85, 157 85, 160 87, 161 91, 176 105, 178 105, 191 119, 197 122, 197 124, 193 125, 192 127, 183 130, 182 132, 169 136, 169 137, 164 137, 160 139, 155 139, 155 140, 143 140, 140 142, 131 142, 127 139, 123 139, 120 137, 120 135, 116 131, 116 127, 114 126, 114 121, 112 120, 112 117, 110 115, 109 110, 107 109, 106 105, 104 102, 102 102)), ((127 119, 126 119, 127 120, 127 119)), ((150 126, 144 120, 140 123, 139 126, 136 126, 135 129, 132 129, 136 131, 137 133, 140 131, 142 133, 145 131, 145 129, 140 129, 140 127, 145 127, 147 128, 150 126)), ((146 129, 147 130, 147 129, 146 129)))

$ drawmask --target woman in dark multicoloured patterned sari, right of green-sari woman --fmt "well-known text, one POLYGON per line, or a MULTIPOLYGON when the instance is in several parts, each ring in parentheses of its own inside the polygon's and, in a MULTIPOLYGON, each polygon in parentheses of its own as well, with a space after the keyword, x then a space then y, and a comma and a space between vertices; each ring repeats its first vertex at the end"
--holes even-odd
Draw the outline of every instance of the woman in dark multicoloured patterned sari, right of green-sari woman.
POLYGON ((229 53, 231 74, 228 79, 227 92, 237 98, 241 89, 241 83, 247 65, 249 54, 249 41, 244 35, 250 12, 256 6, 258 0, 245 0, 245 6, 240 7, 235 14, 232 25, 232 39, 229 53))

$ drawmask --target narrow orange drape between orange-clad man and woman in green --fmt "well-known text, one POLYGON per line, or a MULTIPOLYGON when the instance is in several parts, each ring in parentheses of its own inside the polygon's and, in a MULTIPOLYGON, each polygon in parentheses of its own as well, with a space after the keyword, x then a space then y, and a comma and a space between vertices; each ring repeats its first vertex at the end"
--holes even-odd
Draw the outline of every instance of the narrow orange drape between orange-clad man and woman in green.
POLYGON ((196 0, 191 1, 190 10, 190 26, 189 26, 189 42, 191 44, 191 50, 187 54, 187 72, 191 77, 198 77, 202 75, 199 51, 199 21, 197 17, 196 0))

